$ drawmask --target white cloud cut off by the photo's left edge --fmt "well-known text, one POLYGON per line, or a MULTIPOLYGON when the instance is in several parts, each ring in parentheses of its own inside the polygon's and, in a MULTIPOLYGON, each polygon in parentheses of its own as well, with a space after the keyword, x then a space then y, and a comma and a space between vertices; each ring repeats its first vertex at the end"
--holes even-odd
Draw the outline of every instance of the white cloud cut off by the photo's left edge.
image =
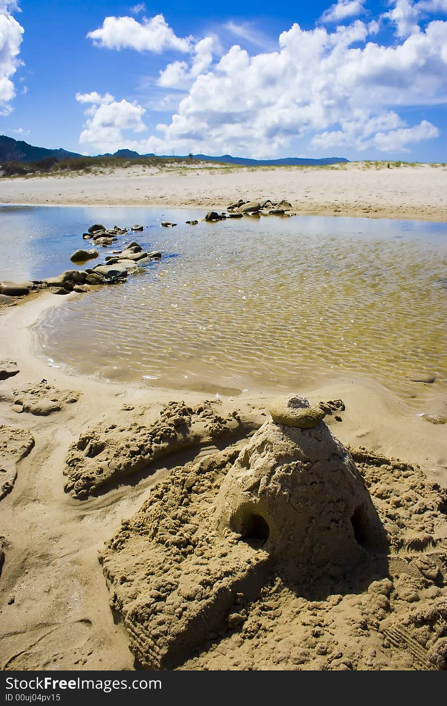
POLYGON ((11 77, 22 63, 18 54, 24 30, 11 15, 17 10, 15 1, 0 0, 0 115, 8 115, 13 109, 11 101, 16 89, 11 77))

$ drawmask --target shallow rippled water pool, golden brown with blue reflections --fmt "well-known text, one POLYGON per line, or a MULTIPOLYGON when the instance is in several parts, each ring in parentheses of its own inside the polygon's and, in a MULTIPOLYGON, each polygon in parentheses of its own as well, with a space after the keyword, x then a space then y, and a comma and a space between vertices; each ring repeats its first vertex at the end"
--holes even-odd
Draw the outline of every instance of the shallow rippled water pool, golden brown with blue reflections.
MULTIPOLYGON (((402 397, 414 389, 405 377, 412 373, 446 385, 447 224, 270 216, 191 227, 184 222, 202 211, 162 213, 3 215, 22 219, 16 233, 24 222, 38 233, 25 250, 26 277, 72 267, 68 255, 93 222, 142 222, 138 242, 163 253, 144 274, 49 311, 36 329, 42 356, 105 378, 191 389, 287 389, 340 370, 402 397), (178 226, 160 227, 161 217, 178 226)), ((16 241, 23 244, 23 233, 16 241)))

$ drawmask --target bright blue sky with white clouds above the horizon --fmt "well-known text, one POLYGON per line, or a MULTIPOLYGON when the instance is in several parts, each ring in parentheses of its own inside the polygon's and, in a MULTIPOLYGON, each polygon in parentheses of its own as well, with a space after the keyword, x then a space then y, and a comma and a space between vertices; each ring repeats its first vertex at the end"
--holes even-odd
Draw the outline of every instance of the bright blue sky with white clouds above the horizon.
POLYGON ((447 162, 447 0, 0 0, 0 132, 98 154, 447 162))

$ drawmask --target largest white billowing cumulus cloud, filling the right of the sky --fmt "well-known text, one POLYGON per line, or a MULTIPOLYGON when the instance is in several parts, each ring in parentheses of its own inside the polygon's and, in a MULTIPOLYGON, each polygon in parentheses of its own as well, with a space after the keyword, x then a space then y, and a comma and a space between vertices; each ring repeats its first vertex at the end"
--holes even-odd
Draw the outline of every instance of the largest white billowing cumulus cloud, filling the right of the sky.
POLYGON ((394 47, 368 38, 357 20, 334 32, 293 25, 277 52, 249 56, 232 47, 159 126, 165 143, 205 140, 214 153, 263 157, 304 136, 335 150, 382 150, 388 133, 388 144, 406 146, 436 136, 434 126, 407 126, 389 106, 447 102, 447 23, 434 21, 394 47), (351 47, 358 42, 364 47, 351 47))

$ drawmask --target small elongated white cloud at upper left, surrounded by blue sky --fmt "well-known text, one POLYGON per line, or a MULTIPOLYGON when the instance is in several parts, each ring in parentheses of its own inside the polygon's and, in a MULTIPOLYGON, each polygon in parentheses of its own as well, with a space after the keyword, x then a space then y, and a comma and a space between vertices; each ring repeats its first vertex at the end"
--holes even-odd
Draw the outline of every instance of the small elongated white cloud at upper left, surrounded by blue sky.
POLYGON ((177 52, 191 51, 191 37, 177 37, 162 15, 143 18, 106 17, 102 27, 87 35, 97 47, 107 49, 136 49, 137 52, 156 52, 167 49, 177 52))

